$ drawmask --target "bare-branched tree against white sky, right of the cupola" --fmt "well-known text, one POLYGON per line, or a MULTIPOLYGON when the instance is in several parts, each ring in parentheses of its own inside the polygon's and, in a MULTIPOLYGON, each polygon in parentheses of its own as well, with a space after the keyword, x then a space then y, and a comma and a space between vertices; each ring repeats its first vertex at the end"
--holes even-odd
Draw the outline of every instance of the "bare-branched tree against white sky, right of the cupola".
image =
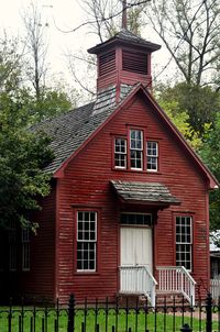
POLYGON ((204 69, 219 57, 217 0, 152 0, 145 11, 187 82, 202 84, 204 69))

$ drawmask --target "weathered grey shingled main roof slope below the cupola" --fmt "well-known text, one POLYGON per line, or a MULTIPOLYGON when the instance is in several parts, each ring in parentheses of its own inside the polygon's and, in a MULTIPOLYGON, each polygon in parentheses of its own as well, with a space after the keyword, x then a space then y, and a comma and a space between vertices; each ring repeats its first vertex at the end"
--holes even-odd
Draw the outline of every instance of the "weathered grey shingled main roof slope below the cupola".
MULTIPOLYGON (((136 86, 123 86, 120 101, 136 86)), ((120 103, 119 103, 120 104, 120 103)), ((119 107, 116 104, 116 87, 100 91, 96 102, 72 110, 63 115, 46 120, 34 130, 44 131, 52 137, 54 161, 45 168, 55 173, 62 164, 119 107)))

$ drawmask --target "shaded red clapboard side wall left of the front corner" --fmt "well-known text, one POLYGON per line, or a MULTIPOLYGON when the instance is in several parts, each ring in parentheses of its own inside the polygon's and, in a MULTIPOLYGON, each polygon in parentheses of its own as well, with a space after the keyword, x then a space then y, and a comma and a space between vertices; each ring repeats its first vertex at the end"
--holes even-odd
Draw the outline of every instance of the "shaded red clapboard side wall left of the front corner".
POLYGON ((55 288, 55 211, 56 188, 42 200, 42 211, 35 214, 36 235, 31 239, 31 269, 21 274, 21 294, 37 300, 54 301, 55 288))

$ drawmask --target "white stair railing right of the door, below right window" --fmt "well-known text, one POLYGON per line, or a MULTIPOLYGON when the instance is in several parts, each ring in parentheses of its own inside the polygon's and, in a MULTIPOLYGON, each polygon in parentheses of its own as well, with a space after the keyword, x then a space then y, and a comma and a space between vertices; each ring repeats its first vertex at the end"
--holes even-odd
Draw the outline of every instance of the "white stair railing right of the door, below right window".
POLYGON ((195 306, 196 281, 184 266, 160 266, 157 290, 162 292, 180 292, 189 303, 195 306))

